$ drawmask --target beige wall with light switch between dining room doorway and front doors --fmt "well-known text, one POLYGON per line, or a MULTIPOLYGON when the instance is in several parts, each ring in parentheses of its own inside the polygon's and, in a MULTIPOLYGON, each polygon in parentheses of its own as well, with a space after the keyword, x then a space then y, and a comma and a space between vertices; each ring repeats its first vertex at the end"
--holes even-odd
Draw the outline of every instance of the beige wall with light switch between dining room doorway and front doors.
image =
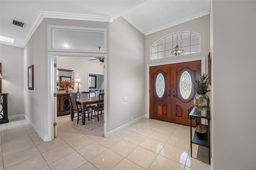
POLYGON ((108 131, 145 114, 144 35, 119 17, 110 23, 108 131), (123 101, 128 97, 128 101, 123 101))

